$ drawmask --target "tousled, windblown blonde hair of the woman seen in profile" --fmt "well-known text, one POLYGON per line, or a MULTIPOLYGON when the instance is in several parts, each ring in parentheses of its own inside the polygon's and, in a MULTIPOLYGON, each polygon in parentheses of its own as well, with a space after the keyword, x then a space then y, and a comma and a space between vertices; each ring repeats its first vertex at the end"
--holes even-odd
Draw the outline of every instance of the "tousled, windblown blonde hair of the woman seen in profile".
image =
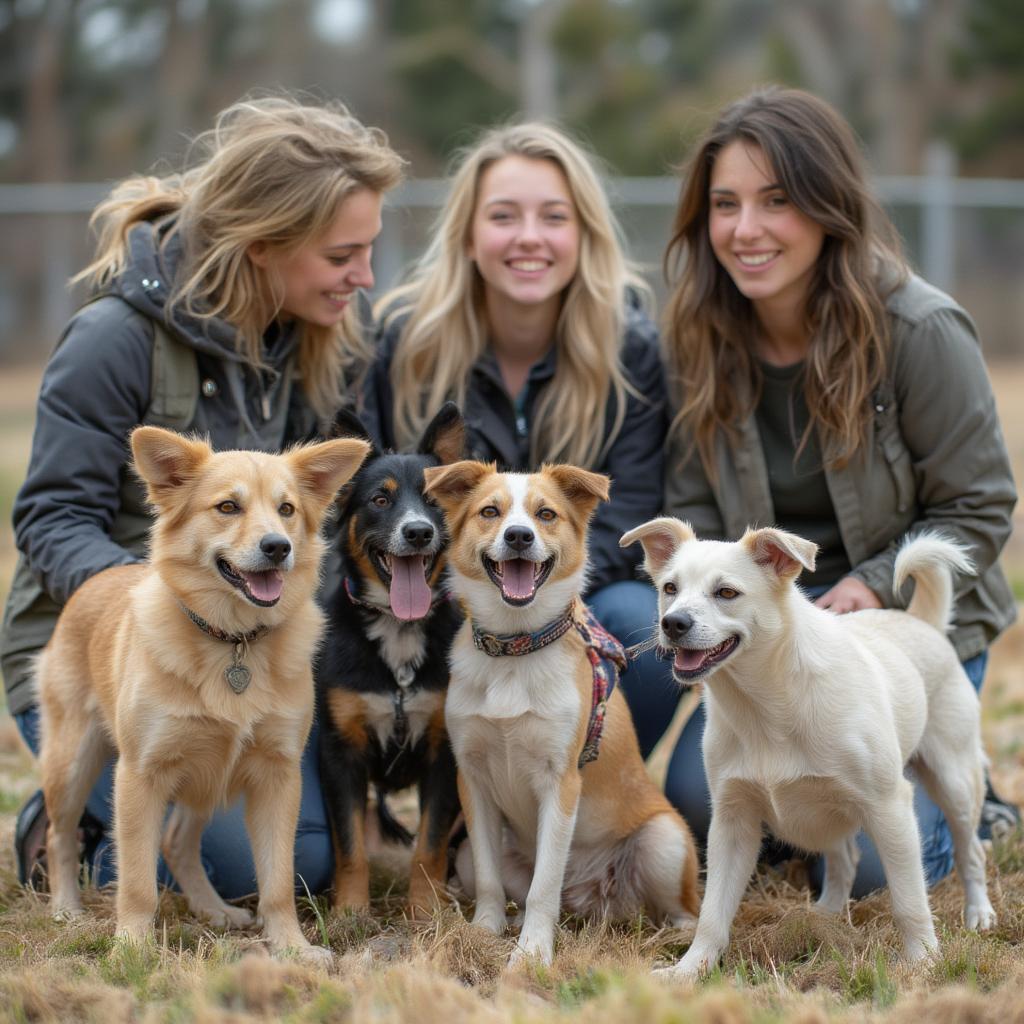
MULTIPOLYGON (((168 305, 201 319, 220 317, 237 345, 262 365, 262 337, 281 311, 272 272, 249 257, 255 242, 281 254, 317 238, 358 189, 384 193, 401 180, 402 160, 376 128, 340 102, 302 103, 290 96, 243 99, 221 112, 193 143, 193 166, 180 175, 133 176, 114 188, 90 224, 98 244, 74 280, 106 287, 128 260, 128 232, 140 221, 176 215, 183 262, 168 305)), ((342 388, 371 352, 350 308, 336 327, 299 325, 299 372, 306 396, 326 419, 342 388)))

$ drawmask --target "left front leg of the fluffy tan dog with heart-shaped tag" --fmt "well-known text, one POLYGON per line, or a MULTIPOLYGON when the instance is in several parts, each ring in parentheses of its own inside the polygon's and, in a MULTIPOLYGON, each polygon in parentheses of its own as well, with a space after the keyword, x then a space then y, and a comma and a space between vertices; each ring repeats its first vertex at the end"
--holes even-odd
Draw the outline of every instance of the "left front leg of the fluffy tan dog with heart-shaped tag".
MULTIPOLYGON (((166 782, 167 774, 157 773, 166 782)), ((143 942, 157 912, 157 854, 167 807, 164 785, 122 755, 114 775, 118 938, 143 942)))

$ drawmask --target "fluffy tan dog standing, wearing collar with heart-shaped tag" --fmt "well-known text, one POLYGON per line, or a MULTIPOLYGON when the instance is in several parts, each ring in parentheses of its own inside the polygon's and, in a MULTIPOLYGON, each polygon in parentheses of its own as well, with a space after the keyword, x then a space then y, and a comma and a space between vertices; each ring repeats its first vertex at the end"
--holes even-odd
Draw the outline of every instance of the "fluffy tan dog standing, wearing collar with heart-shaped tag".
POLYGON ((137 428, 131 444, 157 509, 150 562, 85 583, 38 667, 53 912, 82 912, 76 826, 117 754, 119 938, 152 935, 162 830, 190 909, 220 927, 252 924, 217 895, 200 861, 210 814, 243 793, 271 948, 330 959, 308 943, 295 909, 299 764, 323 627, 313 600, 321 520, 369 445, 215 454, 158 427, 137 428))

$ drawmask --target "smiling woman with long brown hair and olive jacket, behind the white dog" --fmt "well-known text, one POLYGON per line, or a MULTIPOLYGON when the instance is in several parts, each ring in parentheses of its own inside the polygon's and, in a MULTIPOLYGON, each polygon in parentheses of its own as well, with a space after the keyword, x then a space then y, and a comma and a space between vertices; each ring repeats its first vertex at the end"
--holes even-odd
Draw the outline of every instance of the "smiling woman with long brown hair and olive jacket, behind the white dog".
MULTIPOLYGON (((1016 489, 974 325, 907 267, 849 125, 794 89, 728 106, 689 162, 666 268, 667 512, 708 539, 773 523, 813 540, 801 583, 840 614, 898 605, 900 542, 940 529, 977 569, 950 639, 980 688, 1016 614, 996 564, 1016 489)), ((671 713, 653 698, 635 710, 647 725, 671 713)), ((709 820, 702 731, 698 709, 667 780, 695 835, 709 820)), ((935 882, 952 868, 948 828, 923 791, 916 810, 935 882)), ((1017 820, 989 787, 983 827, 1017 820)), ((881 885, 870 850, 855 891, 881 885)))

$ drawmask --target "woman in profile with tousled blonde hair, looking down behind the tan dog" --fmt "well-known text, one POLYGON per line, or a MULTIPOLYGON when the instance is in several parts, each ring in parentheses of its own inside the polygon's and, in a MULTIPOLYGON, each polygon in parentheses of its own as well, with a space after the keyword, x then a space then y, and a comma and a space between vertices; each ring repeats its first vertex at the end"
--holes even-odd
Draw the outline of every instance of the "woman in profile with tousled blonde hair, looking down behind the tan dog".
MULTIPOLYGON (((43 375, 0 638, 8 708, 34 751, 32 663, 60 606, 94 573, 144 557, 151 518, 129 467, 131 429, 280 451, 323 432, 366 368, 356 306, 373 285, 383 194, 402 165, 384 134, 341 103, 245 99, 196 140, 189 163, 180 175, 128 178, 96 209, 96 255, 78 276, 92 297, 43 375)), ((316 889, 331 849, 309 751, 296 870, 316 889)), ((83 819, 100 881, 113 867, 102 857, 110 792, 108 770, 83 819)), ((24 883, 45 829, 37 794, 18 816, 24 883)), ((237 808, 211 823, 203 856, 221 895, 254 891, 237 808)))

